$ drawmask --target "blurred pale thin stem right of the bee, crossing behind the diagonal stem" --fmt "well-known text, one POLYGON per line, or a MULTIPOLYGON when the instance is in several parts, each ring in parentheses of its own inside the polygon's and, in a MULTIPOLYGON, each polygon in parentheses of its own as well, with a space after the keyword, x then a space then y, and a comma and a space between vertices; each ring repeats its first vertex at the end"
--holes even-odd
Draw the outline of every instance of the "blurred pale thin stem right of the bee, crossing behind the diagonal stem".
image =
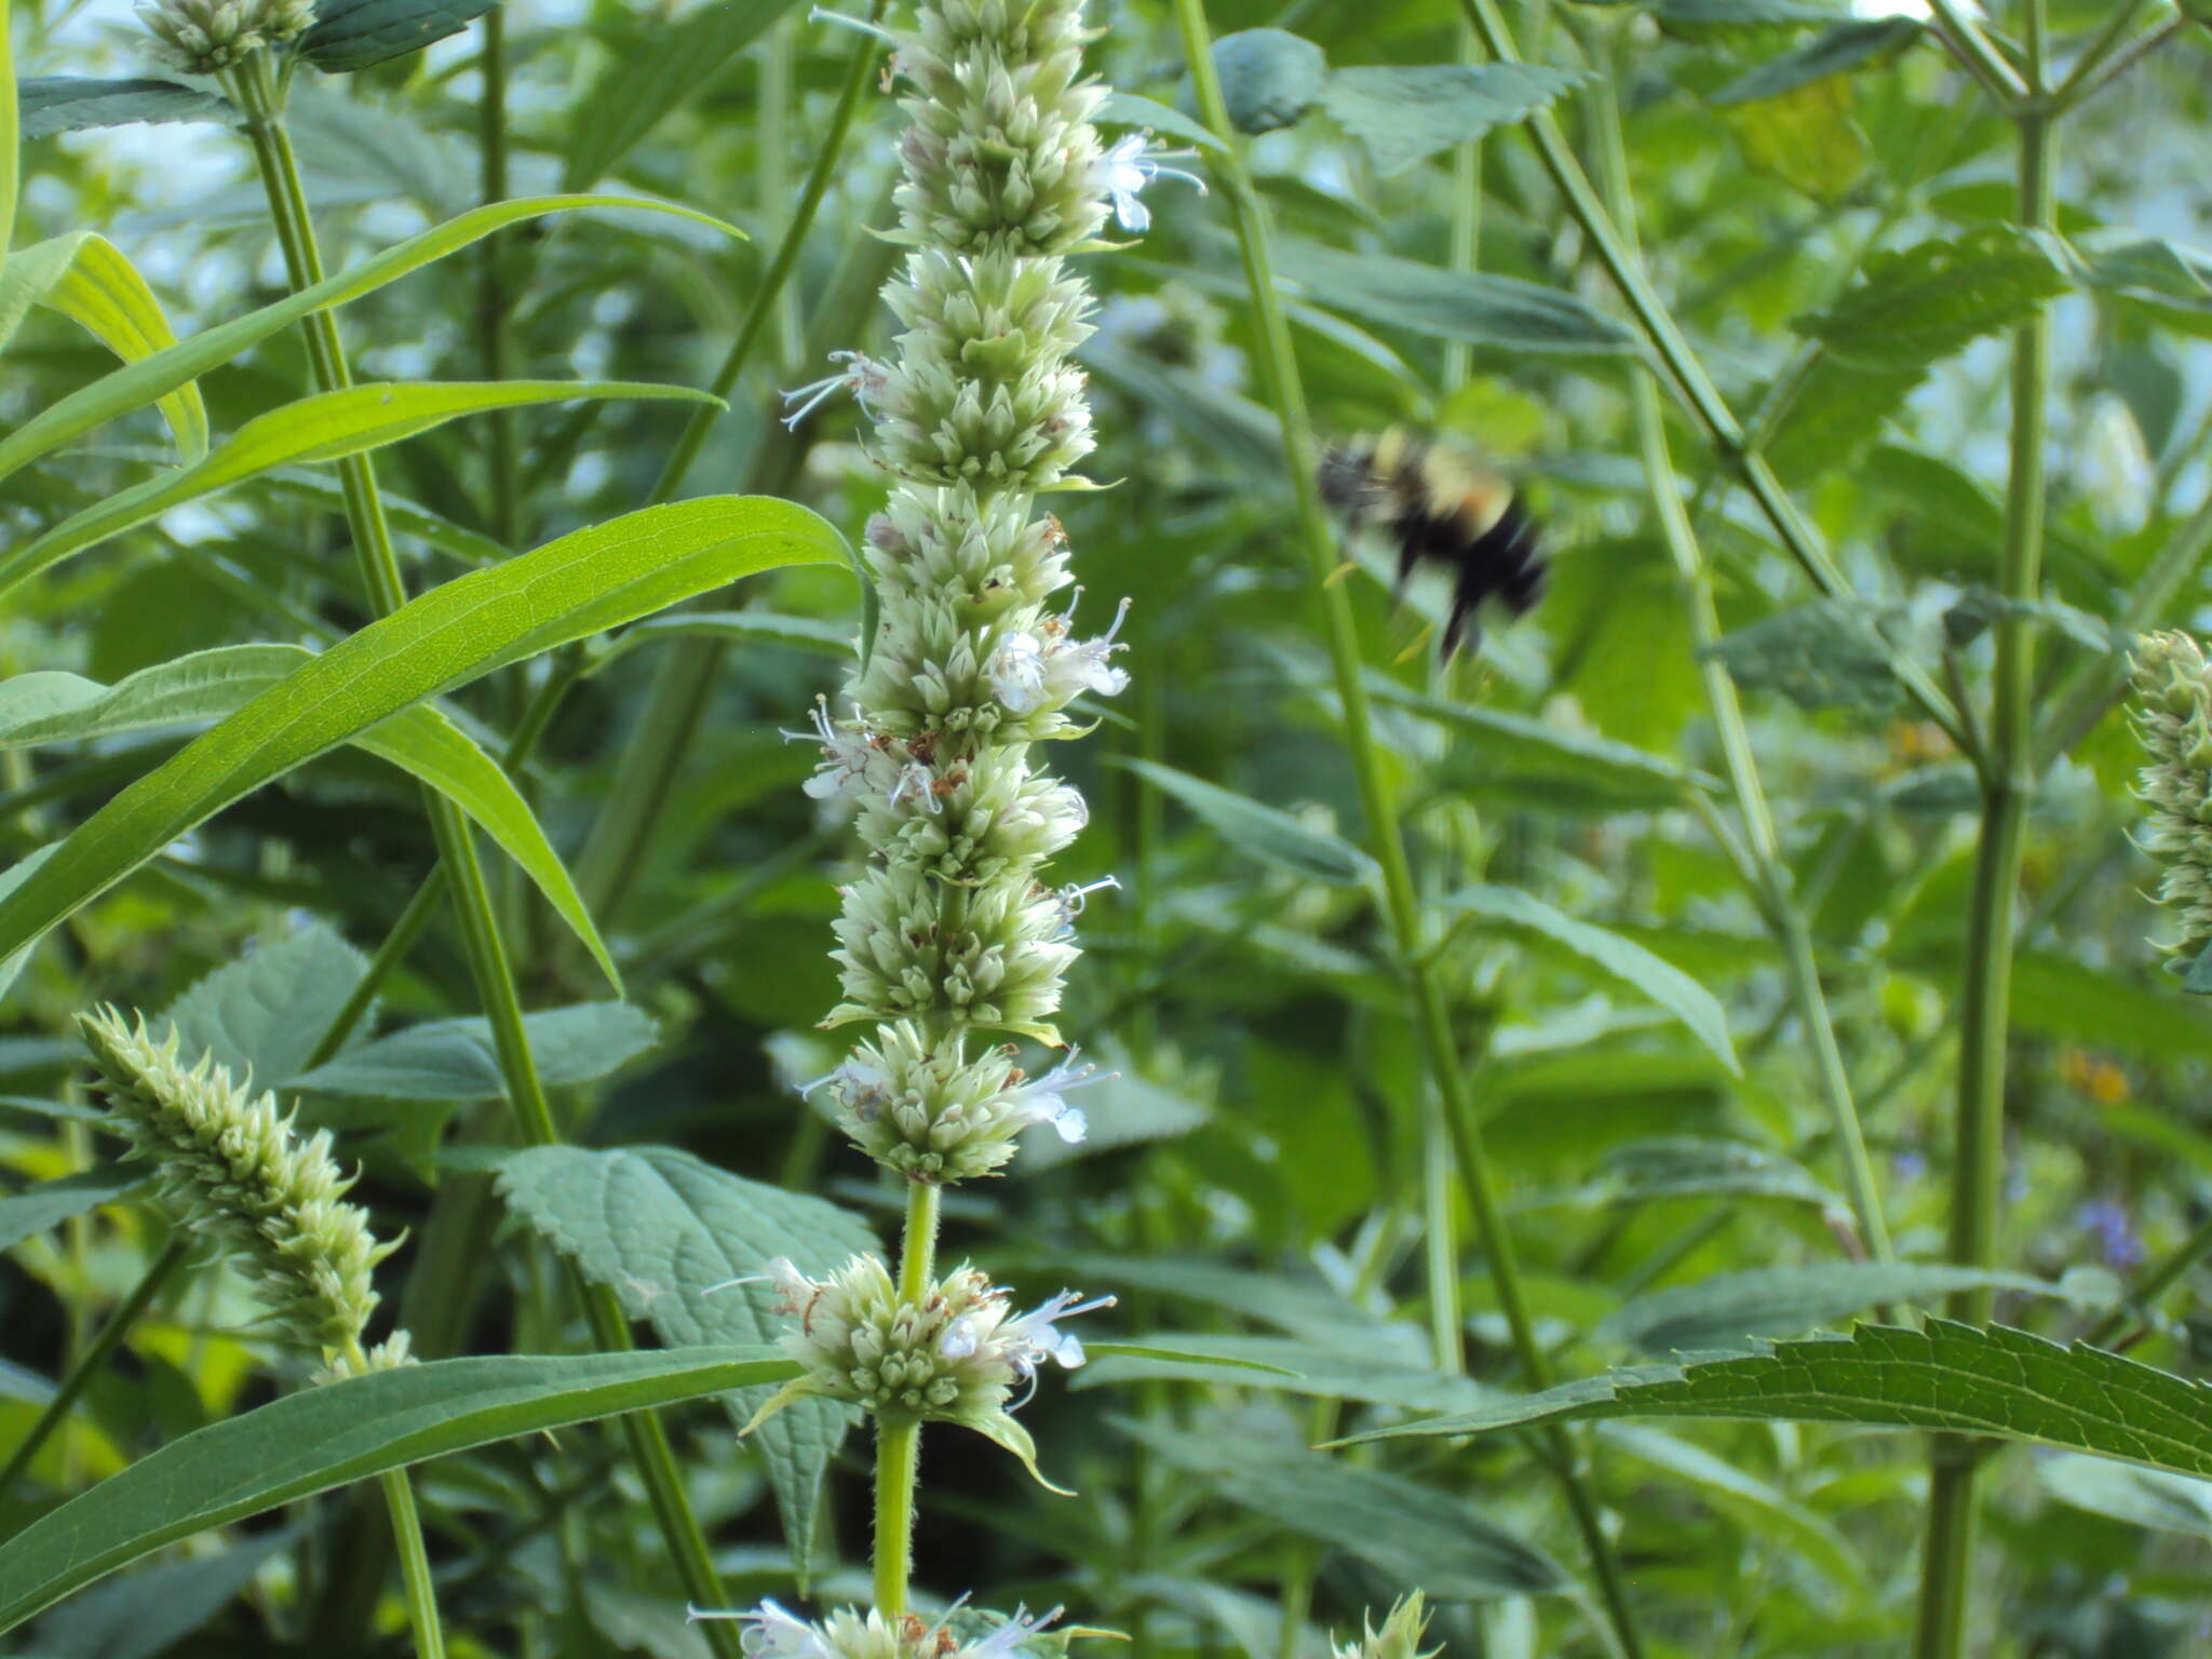
MULTIPOLYGON (((1635 197, 1628 184, 1628 144, 1621 133, 1621 108, 1613 93, 1610 75, 1601 75, 1595 82, 1593 108, 1597 113, 1599 177, 1606 181, 1613 219, 1628 243, 1630 257, 1635 257, 1639 250, 1635 197)), ((1851 1097, 1851 1077, 1836 1044, 1836 1022, 1827 1009, 1827 993, 1820 989, 1820 964, 1814 958, 1812 931, 1805 927, 1805 914, 1792 894, 1790 863, 1783 858, 1781 836, 1774 830, 1774 812, 1759 781, 1759 761, 1752 754, 1752 734, 1743 723, 1736 681, 1728 672, 1728 664, 1712 650, 1721 637, 1721 613, 1712 597, 1712 571, 1705 566, 1703 549, 1681 504, 1681 491, 1674 487, 1674 462, 1668 456, 1659 387, 1652 385, 1650 376, 1639 374, 1630 392, 1635 396, 1644 476, 1652 491, 1661 540, 1674 560, 1674 575, 1681 582, 1683 604, 1690 613, 1699 679, 1705 686, 1705 706, 1721 739, 1728 787, 1736 799, 1736 818, 1743 825, 1743 852, 1754 874, 1752 896, 1759 900, 1776 942, 1783 947, 1790 1002, 1796 1009, 1807 1060, 1820 1086, 1820 1102, 1827 1106, 1829 1130, 1836 1137, 1836 1155, 1843 1159, 1845 1190, 1851 1197, 1851 1217, 1858 1223, 1860 1241, 1876 1261, 1891 1261, 1889 1225, 1882 1221, 1882 1194, 1874 1177, 1874 1159, 1867 1157, 1867 1135, 1858 1119, 1858 1104, 1851 1097)))

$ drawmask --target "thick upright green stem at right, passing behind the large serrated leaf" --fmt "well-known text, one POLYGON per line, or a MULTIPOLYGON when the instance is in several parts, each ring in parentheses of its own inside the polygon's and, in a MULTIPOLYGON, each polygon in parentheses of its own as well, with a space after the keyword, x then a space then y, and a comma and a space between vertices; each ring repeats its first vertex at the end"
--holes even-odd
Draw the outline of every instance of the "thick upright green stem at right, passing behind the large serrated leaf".
MULTIPOLYGON (((2042 93, 2046 55, 2046 0, 2026 7, 2028 82, 2042 93)), ((2026 100, 2013 124, 2020 137, 2020 223, 2051 230, 2053 117, 2026 100)), ((2026 602, 2042 591, 2044 442, 2051 389, 2051 312, 2013 332, 2013 438, 2004 502, 2006 604, 1995 624, 1991 679, 1989 761, 1982 768, 1982 827, 1973 863, 1966 920, 1966 971, 1960 991, 1958 1115, 1951 1152, 1951 1250, 1962 1267, 1991 1267, 1997 1259, 1997 1197, 2004 1164, 2004 1062, 2013 989, 2013 925, 2020 891, 2020 849, 2028 796, 2035 787, 2035 635, 2026 602)), ((1951 1296, 1951 1318, 1989 1321, 1986 1290, 1951 1296)), ((1918 1659, 1958 1659, 1966 1644, 1973 1577, 1973 1442, 1936 1436, 1929 1453, 1929 1533, 1920 1575, 1918 1659)))

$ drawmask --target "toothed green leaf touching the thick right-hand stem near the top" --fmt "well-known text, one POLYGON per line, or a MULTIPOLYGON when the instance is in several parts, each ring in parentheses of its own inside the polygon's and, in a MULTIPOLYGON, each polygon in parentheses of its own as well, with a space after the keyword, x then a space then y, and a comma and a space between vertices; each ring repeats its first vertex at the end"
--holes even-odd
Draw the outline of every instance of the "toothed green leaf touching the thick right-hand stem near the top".
POLYGON ((1858 367, 1918 372, 2026 321, 2070 285, 2051 237, 1986 226, 1874 254, 1847 294, 1796 330, 1858 367))

